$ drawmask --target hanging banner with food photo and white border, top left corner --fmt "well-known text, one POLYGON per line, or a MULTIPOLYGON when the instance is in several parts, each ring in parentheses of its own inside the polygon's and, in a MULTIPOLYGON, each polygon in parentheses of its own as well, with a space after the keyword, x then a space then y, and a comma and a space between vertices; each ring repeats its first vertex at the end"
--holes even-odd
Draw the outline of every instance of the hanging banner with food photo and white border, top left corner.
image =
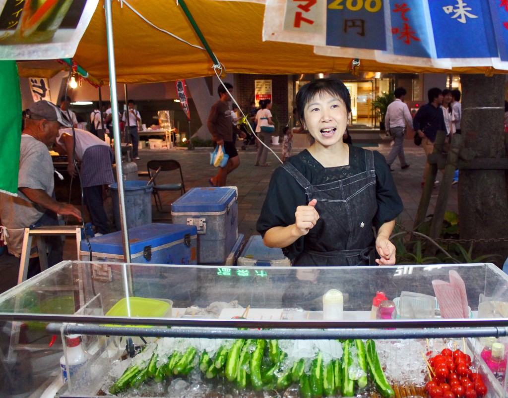
POLYGON ((74 56, 99 0, 0 1, 0 59, 74 56))

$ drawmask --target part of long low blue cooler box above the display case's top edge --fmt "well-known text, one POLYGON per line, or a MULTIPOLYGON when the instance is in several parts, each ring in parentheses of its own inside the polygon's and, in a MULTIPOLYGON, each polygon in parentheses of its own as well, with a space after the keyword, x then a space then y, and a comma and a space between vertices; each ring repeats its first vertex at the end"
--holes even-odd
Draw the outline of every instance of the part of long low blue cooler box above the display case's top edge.
MULTIPOLYGON (((197 264, 197 229, 192 225, 147 224, 129 229, 131 259, 141 264, 197 264)), ((122 232, 90 239, 92 261, 123 262, 122 232)), ((90 259, 81 241, 83 261, 90 259)))

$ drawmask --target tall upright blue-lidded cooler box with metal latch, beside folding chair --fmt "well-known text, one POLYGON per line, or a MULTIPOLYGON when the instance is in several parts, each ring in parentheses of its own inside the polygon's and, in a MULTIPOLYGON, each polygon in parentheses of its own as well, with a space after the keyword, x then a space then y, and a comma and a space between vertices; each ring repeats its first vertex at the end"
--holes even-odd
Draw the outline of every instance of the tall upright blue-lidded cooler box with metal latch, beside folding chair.
POLYGON ((175 224, 198 228, 198 264, 223 264, 238 238, 236 187, 192 188, 171 204, 175 224))

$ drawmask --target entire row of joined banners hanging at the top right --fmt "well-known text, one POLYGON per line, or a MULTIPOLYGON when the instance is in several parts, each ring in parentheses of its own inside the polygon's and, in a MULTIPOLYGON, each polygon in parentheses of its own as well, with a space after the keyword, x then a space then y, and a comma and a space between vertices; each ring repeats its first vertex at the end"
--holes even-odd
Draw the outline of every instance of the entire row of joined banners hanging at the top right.
POLYGON ((263 39, 333 57, 508 69, 508 0, 266 0, 263 39))

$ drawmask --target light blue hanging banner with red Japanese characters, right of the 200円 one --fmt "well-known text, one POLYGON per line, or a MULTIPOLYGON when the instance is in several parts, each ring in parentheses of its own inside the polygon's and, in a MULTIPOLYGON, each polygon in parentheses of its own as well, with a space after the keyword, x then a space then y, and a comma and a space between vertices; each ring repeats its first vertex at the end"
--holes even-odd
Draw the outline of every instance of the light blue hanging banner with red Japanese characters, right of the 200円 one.
POLYGON ((402 2, 390 0, 393 53, 411 57, 431 58, 435 56, 429 36, 431 28, 425 3, 427 0, 402 2))

